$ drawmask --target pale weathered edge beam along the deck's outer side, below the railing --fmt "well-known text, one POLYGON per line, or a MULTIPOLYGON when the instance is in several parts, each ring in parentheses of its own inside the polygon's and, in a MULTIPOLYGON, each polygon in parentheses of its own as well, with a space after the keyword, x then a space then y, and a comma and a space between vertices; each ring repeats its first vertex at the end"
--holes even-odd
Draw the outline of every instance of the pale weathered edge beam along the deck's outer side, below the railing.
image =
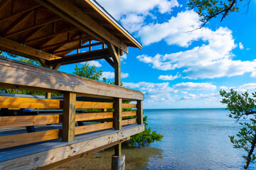
POLYGON ((31 153, 30 150, 33 148, 38 148, 38 150, 41 149, 41 147, 35 146, 31 149, 26 149, 27 152, 23 153, 23 155, 26 156, 23 157, 21 156, 22 154, 18 153, 16 150, 16 155, 12 155, 12 158, 9 157, 9 159, 5 159, 6 161, 0 162, 0 169, 35 169, 40 166, 46 166, 48 164, 61 161, 68 157, 82 154, 83 152, 90 151, 97 147, 102 147, 109 143, 122 140, 125 137, 129 137, 144 131, 144 125, 136 125, 131 127, 134 128, 126 128, 124 130, 109 130, 109 134, 107 135, 104 133, 104 131, 102 131, 100 132, 102 135, 92 137, 90 140, 87 137, 80 137, 80 140, 66 143, 66 145, 63 147, 55 146, 55 149, 48 148, 48 150, 43 152, 36 152, 33 150, 34 154, 28 155, 28 153, 31 153), (20 157, 17 157, 17 155, 20 157), (14 158, 14 156, 16 156, 16 158, 14 158))

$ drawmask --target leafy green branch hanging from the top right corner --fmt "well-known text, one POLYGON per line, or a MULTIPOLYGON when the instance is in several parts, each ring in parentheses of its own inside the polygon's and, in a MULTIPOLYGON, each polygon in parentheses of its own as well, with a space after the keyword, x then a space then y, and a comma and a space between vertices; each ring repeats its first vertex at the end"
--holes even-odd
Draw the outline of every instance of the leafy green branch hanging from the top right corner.
POLYGON ((201 17, 201 27, 206 25, 212 18, 220 16, 220 21, 229 16, 230 13, 238 12, 238 6, 247 6, 247 10, 250 5, 250 0, 188 0, 188 7, 196 9, 196 12, 201 17), (242 4, 245 1, 245 4, 242 4))

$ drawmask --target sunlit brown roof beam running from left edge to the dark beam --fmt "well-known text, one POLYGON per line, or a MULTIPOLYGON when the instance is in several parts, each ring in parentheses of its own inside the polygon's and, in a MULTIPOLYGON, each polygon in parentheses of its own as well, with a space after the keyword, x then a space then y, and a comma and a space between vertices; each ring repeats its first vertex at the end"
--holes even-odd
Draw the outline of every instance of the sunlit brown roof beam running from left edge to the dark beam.
POLYGON ((0 49, 5 52, 11 52, 23 57, 38 57, 45 60, 59 59, 57 55, 50 55, 48 52, 37 50, 28 45, 21 45, 18 42, 0 37, 0 49))

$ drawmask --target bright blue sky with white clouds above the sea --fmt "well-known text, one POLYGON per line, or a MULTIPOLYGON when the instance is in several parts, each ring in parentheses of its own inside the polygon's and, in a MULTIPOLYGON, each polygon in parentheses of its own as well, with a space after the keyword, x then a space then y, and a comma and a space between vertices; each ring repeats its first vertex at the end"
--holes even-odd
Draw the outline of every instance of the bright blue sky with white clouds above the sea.
MULTIPOLYGON (((201 30, 197 13, 177 0, 98 0, 144 45, 122 56, 124 86, 142 91, 144 108, 223 108, 220 89, 256 89, 256 1, 201 30)), ((104 60, 90 62, 114 80, 104 60)), ((60 67, 73 72, 75 64, 60 67)))

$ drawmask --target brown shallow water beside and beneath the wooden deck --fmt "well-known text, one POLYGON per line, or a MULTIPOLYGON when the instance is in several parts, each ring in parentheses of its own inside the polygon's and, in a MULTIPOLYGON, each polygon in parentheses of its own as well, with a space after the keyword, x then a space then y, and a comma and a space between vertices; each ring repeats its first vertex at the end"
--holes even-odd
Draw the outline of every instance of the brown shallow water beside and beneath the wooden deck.
MULTIPOLYGON (((114 149, 105 149, 104 151, 92 154, 89 157, 78 159, 75 162, 60 166, 55 170, 102 170, 111 169, 111 157, 114 149)), ((154 147, 142 148, 122 148, 122 153, 125 154, 125 169, 154 169, 159 166, 159 162, 163 160, 163 150, 154 147), (157 162, 157 163, 156 163, 157 162)))

